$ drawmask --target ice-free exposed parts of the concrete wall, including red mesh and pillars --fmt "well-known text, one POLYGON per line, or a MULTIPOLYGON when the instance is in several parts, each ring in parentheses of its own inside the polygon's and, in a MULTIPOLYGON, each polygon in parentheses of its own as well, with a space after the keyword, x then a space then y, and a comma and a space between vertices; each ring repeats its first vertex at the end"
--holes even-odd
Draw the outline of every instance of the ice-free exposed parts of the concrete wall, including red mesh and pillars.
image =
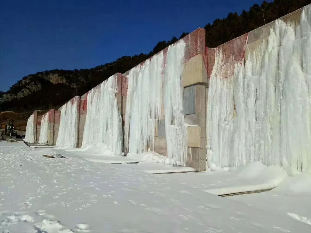
MULTIPOLYGON (((282 17, 284 21, 298 24, 302 9, 299 9, 287 16, 282 17)), ((223 78, 232 75, 234 65, 237 62, 244 62, 253 48, 259 43, 267 41, 270 29, 275 22, 271 22, 236 39, 233 39, 216 48, 205 46, 205 30, 199 28, 188 34, 182 40, 186 43, 184 55, 184 69, 182 75, 183 87, 183 111, 187 127, 187 166, 194 167, 197 171, 206 170, 206 114, 209 76, 213 71, 215 63, 215 52, 222 50, 224 54, 224 65, 220 67, 223 78)), ((164 56, 168 48, 163 50, 164 56)), ((143 62, 144 63, 144 62, 143 62)), ((143 63, 139 64, 141 66, 143 63)), ((122 128, 124 139, 125 110, 127 102, 128 74, 117 73, 114 78, 117 80, 116 98, 118 109, 122 116, 122 128)), ((95 88, 100 88, 100 85, 95 88)), ((78 121, 78 147, 82 145, 83 130, 87 111, 87 94, 81 96, 79 100, 79 121, 78 121)), ((163 104, 162 104, 163 105, 163 104)), ((165 135, 165 112, 164 107, 160 119, 155 125, 155 139, 153 150, 157 153, 167 154, 166 135, 165 135)), ((40 132, 40 116, 38 111, 34 112, 34 135, 35 142, 38 141, 37 135, 40 132)), ((54 145, 58 135, 60 111, 50 110, 49 145, 54 145)), ((124 140, 123 140, 124 141, 124 140)), ((127 146, 123 145, 123 148, 127 146)), ((124 149, 123 149, 124 150, 124 149)), ((126 153, 126 151, 125 151, 126 153)))

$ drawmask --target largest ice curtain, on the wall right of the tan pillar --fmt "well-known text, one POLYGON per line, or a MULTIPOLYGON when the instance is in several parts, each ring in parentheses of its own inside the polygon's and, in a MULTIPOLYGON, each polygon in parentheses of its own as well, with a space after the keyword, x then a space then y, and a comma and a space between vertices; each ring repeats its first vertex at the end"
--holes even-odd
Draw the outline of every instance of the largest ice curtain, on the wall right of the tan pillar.
MULTIPOLYGON (((299 25, 276 21, 267 42, 234 75, 210 79, 207 161, 221 167, 259 160, 290 172, 311 169, 311 8, 299 25), (236 117, 234 117, 236 112, 236 117)), ((210 165, 210 164, 209 164, 210 165)))

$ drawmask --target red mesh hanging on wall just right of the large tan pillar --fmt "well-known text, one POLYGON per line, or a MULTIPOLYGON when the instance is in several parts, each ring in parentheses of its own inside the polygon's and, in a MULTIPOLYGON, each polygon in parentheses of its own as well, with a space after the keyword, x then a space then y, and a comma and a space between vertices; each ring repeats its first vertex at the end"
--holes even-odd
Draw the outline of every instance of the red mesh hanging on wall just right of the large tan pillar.
POLYGON ((222 44, 215 49, 206 48, 207 71, 210 77, 215 63, 216 52, 221 52, 222 62, 220 65, 220 76, 223 78, 230 77, 234 74, 234 67, 237 63, 243 62, 245 55, 245 45, 248 34, 244 34, 236 39, 222 44))

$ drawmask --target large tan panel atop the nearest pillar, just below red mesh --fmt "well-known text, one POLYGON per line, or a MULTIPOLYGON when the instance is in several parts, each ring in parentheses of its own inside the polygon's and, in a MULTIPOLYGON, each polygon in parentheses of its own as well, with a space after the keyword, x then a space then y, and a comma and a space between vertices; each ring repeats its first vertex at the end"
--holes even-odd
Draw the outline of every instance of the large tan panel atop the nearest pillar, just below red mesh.
POLYGON ((185 63, 182 76, 183 87, 197 83, 207 83, 207 70, 201 54, 191 57, 185 63))

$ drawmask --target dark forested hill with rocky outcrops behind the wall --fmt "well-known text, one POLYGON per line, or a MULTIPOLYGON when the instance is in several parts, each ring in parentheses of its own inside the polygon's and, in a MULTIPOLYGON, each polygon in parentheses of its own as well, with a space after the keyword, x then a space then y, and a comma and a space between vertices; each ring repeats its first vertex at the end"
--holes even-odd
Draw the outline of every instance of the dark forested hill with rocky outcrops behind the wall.
MULTIPOLYGON (((229 13, 227 18, 207 24, 206 44, 214 48, 281 16, 293 12, 311 0, 275 0, 254 4, 248 11, 229 13)), ((204 23, 204 22, 202 22, 204 23)), ((199 25, 198 25, 199 26, 199 25)), ((182 38, 187 33, 183 33, 182 38)), ((6 93, 0 93, 0 111, 31 112, 58 108, 75 95, 82 95, 116 72, 124 73, 178 39, 160 41, 148 54, 124 56, 116 61, 81 70, 50 70, 23 77, 6 93)))

